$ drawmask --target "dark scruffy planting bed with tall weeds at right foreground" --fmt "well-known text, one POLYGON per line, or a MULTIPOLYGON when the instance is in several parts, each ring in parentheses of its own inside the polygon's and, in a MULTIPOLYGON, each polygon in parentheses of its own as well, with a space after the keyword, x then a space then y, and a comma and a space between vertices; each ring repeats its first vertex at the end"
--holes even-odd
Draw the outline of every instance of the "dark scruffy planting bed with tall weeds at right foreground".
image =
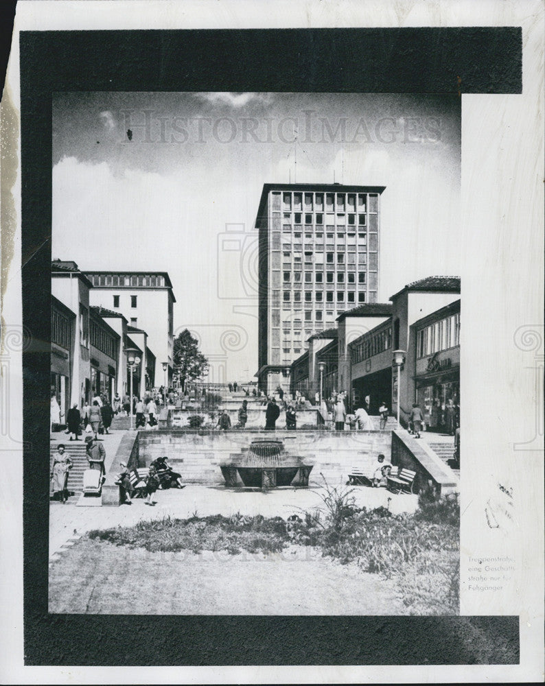
POLYGON ((341 564, 393 580, 408 613, 459 614, 459 504, 419 499, 415 514, 358 508, 353 489, 325 487, 322 505, 288 521, 265 518, 198 517, 141 521, 130 527, 89 532, 90 539, 142 547, 150 552, 191 550, 238 554, 281 552, 290 543, 312 545, 341 564))

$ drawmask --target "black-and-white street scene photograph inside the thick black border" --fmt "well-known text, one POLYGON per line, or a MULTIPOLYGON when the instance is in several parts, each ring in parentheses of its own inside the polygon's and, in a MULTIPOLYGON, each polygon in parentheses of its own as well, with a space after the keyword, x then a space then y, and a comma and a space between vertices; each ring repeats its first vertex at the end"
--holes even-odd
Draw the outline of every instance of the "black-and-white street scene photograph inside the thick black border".
POLYGON ((49 612, 457 615, 461 99, 52 130, 49 612))

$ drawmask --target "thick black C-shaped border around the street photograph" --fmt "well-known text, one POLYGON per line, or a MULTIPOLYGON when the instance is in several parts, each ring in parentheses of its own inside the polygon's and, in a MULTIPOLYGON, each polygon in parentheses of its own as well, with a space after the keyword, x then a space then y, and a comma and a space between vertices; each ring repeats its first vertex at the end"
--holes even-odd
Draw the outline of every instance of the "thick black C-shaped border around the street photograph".
POLYGON ((458 637, 518 617, 47 613, 51 94, 522 93, 520 27, 21 32, 23 584, 27 665, 467 664, 458 637))

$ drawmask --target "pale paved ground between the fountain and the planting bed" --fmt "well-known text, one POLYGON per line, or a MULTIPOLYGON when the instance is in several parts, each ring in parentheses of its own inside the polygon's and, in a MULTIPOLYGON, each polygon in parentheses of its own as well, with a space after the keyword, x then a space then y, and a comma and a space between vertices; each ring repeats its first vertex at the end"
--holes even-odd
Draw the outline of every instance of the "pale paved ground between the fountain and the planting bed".
MULTIPOLYGON (((106 437, 107 438, 107 437, 106 437)), ((323 506, 320 494, 325 488, 280 488, 261 491, 233 490, 225 486, 202 486, 188 484, 178 490, 158 490, 154 495, 155 506, 146 506, 143 499, 133 499, 132 505, 117 508, 78 508, 74 504, 49 504, 49 560, 58 558, 59 552, 71 545, 71 539, 78 539, 91 529, 107 529, 117 525, 134 525, 141 520, 173 517, 188 519, 196 514, 206 517, 210 514, 240 514, 264 517, 302 516, 303 510, 314 510, 323 506)), ((353 487, 352 495, 360 507, 390 508, 393 514, 414 512, 417 495, 393 495, 385 488, 353 487)))

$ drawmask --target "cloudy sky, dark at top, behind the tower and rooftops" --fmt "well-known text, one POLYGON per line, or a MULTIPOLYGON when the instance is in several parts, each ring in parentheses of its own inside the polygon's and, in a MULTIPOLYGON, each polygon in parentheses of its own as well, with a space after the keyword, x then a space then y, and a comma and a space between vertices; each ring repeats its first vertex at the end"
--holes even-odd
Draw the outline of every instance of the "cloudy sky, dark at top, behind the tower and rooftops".
POLYGON ((356 93, 59 93, 52 257, 166 271, 209 381, 257 372, 264 183, 386 187, 378 299, 458 275, 461 103, 356 93))

